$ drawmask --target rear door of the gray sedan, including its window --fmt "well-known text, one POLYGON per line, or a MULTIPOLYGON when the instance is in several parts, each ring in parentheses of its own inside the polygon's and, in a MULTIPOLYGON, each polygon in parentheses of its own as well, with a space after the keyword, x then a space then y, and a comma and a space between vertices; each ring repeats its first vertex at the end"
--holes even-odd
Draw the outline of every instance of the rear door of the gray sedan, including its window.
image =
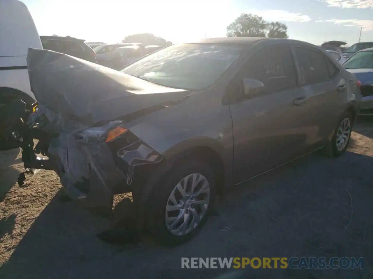
POLYGON ((305 143, 309 151, 322 145, 335 128, 339 117, 339 106, 347 90, 347 82, 338 67, 322 51, 303 45, 295 45, 294 52, 300 70, 303 87, 310 87, 307 96, 307 126, 313 127, 305 143))

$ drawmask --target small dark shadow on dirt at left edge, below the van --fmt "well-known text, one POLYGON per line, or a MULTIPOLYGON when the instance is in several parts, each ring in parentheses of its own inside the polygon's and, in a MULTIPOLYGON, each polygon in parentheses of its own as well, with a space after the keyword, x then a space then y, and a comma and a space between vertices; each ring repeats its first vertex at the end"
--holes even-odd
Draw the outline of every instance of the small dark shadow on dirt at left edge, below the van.
POLYGON ((12 165, 22 163, 21 158, 16 159, 18 154, 19 148, 0 152, 0 202, 17 182, 19 171, 12 165))

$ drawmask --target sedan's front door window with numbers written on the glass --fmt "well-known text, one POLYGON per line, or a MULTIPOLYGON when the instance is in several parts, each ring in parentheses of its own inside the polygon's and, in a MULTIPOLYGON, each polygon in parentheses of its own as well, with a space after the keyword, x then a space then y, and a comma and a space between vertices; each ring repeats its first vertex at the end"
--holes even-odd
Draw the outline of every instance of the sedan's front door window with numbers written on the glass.
POLYGON ((260 80, 267 93, 297 85, 294 60, 288 45, 272 45, 254 54, 242 70, 242 77, 260 80))

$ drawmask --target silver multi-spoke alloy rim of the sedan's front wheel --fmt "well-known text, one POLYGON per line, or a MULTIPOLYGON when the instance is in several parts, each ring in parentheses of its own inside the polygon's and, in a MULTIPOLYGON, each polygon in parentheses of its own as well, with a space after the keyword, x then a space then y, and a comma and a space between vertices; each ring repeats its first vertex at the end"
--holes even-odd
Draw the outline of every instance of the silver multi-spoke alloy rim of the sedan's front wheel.
POLYGON ((210 203, 210 185, 199 173, 184 177, 172 190, 166 205, 167 230, 177 236, 186 235, 201 223, 210 203))

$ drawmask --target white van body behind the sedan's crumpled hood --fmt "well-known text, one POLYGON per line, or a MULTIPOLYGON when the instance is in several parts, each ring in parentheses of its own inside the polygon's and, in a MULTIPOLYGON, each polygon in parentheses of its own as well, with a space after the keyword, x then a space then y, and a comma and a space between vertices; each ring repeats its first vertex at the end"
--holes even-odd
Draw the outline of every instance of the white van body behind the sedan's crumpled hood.
POLYGON ((14 99, 35 102, 26 63, 29 47, 43 48, 26 5, 0 0, 0 105, 14 99))

